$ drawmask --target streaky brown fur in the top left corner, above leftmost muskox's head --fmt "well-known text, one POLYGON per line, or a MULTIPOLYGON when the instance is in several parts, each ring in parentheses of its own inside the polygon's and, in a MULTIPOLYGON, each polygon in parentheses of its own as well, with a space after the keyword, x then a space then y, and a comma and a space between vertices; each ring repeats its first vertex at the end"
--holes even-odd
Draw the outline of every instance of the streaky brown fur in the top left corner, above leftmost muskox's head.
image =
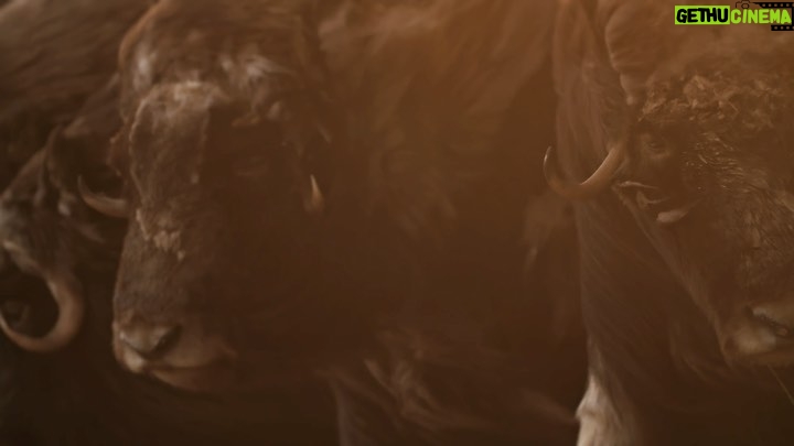
POLYGON ((14 1, 0 10, 0 187, 116 69, 148 0, 14 1))

